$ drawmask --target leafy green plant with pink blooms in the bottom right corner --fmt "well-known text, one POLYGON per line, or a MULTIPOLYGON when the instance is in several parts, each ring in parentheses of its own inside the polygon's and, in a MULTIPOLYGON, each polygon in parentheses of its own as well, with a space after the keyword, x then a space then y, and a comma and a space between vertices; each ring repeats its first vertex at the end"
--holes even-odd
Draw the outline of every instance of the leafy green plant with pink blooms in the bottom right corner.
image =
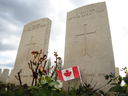
POLYGON ((128 70, 127 67, 122 68, 121 71, 124 71, 126 74, 125 77, 115 76, 115 73, 110 73, 106 75, 106 80, 109 79, 107 84, 113 85, 108 92, 116 92, 118 96, 128 96, 128 70), (122 82, 124 81, 124 85, 122 86, 122 82))

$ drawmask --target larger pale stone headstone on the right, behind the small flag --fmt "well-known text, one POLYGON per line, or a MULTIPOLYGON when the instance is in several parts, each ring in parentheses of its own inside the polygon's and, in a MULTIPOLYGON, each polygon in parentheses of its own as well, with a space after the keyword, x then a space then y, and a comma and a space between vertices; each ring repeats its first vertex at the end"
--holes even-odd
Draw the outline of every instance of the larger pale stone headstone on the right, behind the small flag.
MULTIPOLYGON (((96 88, 106 85, 104 75, 115 72, 113 49, 105 2, 67 13, 64 68, 79 66, 83 81, 96 88)), ((80 79, 63 82, 68 90, 80 79)), ((109 86, 102 88, 108 90, 109 86)))

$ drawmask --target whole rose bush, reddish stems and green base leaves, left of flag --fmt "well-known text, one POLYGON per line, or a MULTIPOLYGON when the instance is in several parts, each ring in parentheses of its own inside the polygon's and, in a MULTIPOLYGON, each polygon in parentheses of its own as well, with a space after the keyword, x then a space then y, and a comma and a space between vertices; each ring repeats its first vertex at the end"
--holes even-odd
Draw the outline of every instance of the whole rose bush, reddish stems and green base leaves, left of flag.
MULTIPOLYGON (((36 84, 36 86, 29 87, 29 90, 31 90, 32 93, 35 92, 35 91, 38 91, 38 90, 42 90, 42 89, 59 91, 60 89, 55 88, 55 85, 59 85, 59 83, 56 81, 56 79, 53 78, 53 76, 56 76, 55 72, 57 71, 57 60, 61 59, 60 57, 58 57, 57 52, 54 52, 55 53, 54 55, 56 57, 56 61, 55 61, 56 67, 54 68, 54 70, 51 68, 53 70, 51 76, 49 76, 49 74, 47 75, 47 73, 50 72, 50 69, 49 69, 50 63, 46 63, 47 60, 46 60, 46 58, 44 59, 44 57, 46 55, 43 54, 43 59, 41 59, 40 55, 39 55, 39 52, 33 51, 32 53, 34 55, 34 60, 33 60, 33 62, 31 61, 28 64, 29 64, 29 67, 32 70, 32 72, 36 74, 36 76, 33 77, 33 80, 37 79, 38 75, 39 75, 39 79, 38 79, 38 84, 36 84), (36 61, 35 61, 37 57, 38 57, 39 63, 36 63, 36 61), (43 61, 45 61, 44 64, 43 64, 43 61), (39 66, 39 67, 37 67, 39 71, 36 70, 37 68, 34 71, 34 69, 32 67, 34 63, 35 63, 35 65, 39 66), (45 69, 45 67, 46 67, 47 70, 45 69), (49 71, 49 72, 47 72, 47 71, 49 71)), ((42 51, 40 52, 40 54, 41 53, 42 53, 42 51)))

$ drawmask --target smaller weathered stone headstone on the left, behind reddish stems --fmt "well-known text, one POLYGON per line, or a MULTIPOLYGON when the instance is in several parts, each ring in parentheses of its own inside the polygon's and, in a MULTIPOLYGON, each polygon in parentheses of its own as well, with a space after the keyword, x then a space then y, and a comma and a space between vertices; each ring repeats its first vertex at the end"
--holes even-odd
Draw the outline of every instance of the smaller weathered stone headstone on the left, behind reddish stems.
POLYGON ((32 71, 28 67, 28 62, 33 60, 32 51, 40 51, 46 54, 48 51, 49 37, 51 30, 51 20, 48 18, 39 19, 30 22, 24 26, 14 69, 9 77, 10 83, 19 84, 19 81, 14 77, 22 69, 21 80, 22 84, 32 83, 32 71))

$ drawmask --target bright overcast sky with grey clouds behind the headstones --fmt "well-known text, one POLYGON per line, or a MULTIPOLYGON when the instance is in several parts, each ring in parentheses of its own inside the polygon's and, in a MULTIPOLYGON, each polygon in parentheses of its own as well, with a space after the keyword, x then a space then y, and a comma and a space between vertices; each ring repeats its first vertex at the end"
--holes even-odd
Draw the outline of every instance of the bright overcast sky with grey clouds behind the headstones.
MULTIPOLYGON (((0 0, 0 68, 14 67, 25 24, 52 20, 49 57, 58 51, 64 59, 67 12, 103 0, 0 0)), ((128 67, 128 0, 104 0, 110 23, 115 66, 128 67)), ((53 62, 53 61, 52 61, 53 62)))

